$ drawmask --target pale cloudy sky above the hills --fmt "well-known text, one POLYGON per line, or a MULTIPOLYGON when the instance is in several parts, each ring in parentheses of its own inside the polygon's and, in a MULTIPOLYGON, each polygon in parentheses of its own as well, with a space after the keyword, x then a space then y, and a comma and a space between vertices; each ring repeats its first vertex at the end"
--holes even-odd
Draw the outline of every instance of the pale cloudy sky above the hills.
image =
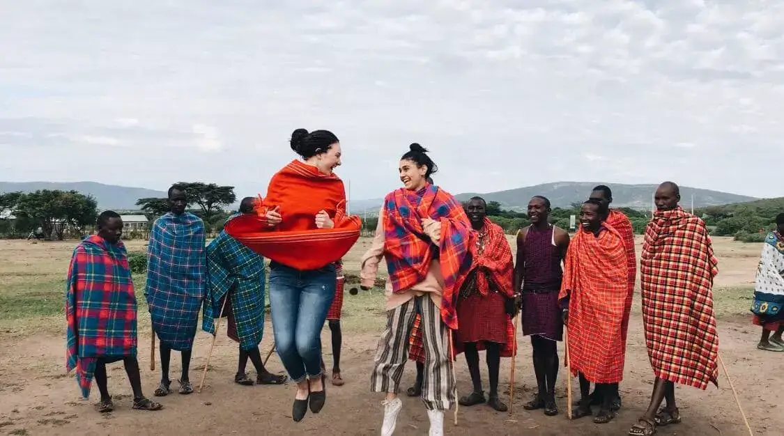
POLYGON ((0 180, 266 191, 293 129, 353 198, 408 144, 454 193, 575 180, 784 195, 784 2, 0 2, 0 180), (774 183, 778 182, 778 183, 774 183))

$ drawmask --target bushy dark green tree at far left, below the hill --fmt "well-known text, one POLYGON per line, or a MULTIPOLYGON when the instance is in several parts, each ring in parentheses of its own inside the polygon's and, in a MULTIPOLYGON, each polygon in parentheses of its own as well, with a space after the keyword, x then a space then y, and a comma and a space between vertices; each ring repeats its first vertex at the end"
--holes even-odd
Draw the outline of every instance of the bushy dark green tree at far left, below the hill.
POLYGON ((16 218, 26 230, 41 227, 46 236, 60 240, 69 227, 82 234, 97 216, 96 199, 78 191, 38 190, 21 194, 16 205, 16 218))

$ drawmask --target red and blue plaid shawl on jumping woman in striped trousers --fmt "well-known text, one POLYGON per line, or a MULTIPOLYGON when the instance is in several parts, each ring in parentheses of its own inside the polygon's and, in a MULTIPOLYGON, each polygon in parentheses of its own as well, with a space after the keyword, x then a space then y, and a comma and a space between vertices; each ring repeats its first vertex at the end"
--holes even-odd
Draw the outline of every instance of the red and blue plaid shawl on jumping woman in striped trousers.
POLYGON ((456 330, 457 291, 474 267, 477 240, 463 205, 452 194, 428 184, 419 191, 400 188, 390 192, 384 198, 383 214, 384 257, 393 291, 422 282, 430 261, 437 258, 444 278, 441 318, 456 330), (423 231, 424 218, 441 222, 439 246, 423 231))

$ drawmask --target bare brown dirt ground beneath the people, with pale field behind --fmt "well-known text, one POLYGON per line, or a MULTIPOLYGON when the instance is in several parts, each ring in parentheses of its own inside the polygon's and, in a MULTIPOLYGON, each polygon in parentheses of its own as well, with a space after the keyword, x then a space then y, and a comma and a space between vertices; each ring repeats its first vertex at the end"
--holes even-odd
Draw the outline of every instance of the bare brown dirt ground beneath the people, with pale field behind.
MULTIPOLYGON (((368 241, 362 240, 347 256, 347 270, 358 267, 358 256, 367 245, 368 241)), ((63 278, 73 246, 74 242, 0 241, 0 292, 23 289, 26 283, 34 286, 37 282, 63 278)), ((720 355, 755 433, 782 434, 784 353, 757 351, 759 331, 750 325, 750 300, 739 297, 747 297, 745 294, 750 295, 750 292, 738 292, 739 287, 748 288, 753 284, 760 247, 724 238, 716 238, 714 246, 721 270, 715 289, 720 313, 720 355)), ((129 242, 129 249, 142 248, 143 243, 129 242)), ((61 295, 54 297, 61 298, 61 295)), ((345 298, 344 307, 350 306, 350 311, 346 314, 344 309, 347 326, 343 332, 341 366, 347 383, 343 387, 329 386, 325 409, 319 415, 309 412, 301 423, 293 423, 291 419, 292 385, 241 387, 233 383, 237 346, 227 339, 225 328, 221 328, 223 332, 218 336, 201 394, 171 394, 159 399, 165 405, 162 411, 134 411, 122 364, 113 364, 109 368, 109 383, 116 409, 101 415, 94 409, 98 401, 97 388, 93 386, 93 396, 89 400, 82 400, 76 383, 64 373, 64 317, 6 320, 0 330, 0 434, 306 434, 310 431, 379 434, 383 398, 368 392, 368 376, 378 332, 385 321, 380 310, 381 297, 376 293, 345 298), (359 307, 356 301, 362 301, 367 307, 359 307)), ((528 339, 518 337, 520 353, 516 359, 511 415, 495 412, 486 405, 460 408, 457 427, 452 422, 453 413, 447 413, 445 434, 626 434, 648 405, 653 379, 642 334, 639 296, 635 303, 625 380, 621 383, 623 409, 612 423, 600 426, 588 418, 573 422, 566 419, 563 371, 558 383, 561 414, 550 418, 542 412, 524 411, 522 405, 532 397, 535 379, 528 339)), ((145 318, 148 318, 147 314, 140 310, 139 360, 145 394, 151 396, 160 375, 149 368, 150 329, 145 318)), ((267 335, 261 346, 263 354, 272 345, 271 332, 267 323, 267 335)), ((329 343, 328 329, 324 330, 322 339, 323 343, 329 343)), ((198 333, 191 364, 191 381, 196 386, 211 340, 212 336, 205 332, 198 333)), ((562 356, 562 344, 559 350, 562 356)), ((328 367, 331 366, 328 347, 325 347, 325 360, 328 367)), ((272 372, 283 371, 274 354, 267 366, 272 372)), ((510 366, 511 359, 502 361, 499 390, 505 401, 509 400, 510 366)), ((459 394, 467 394, 470 377, 462 357, 458 358, 456 369, 459 394)), ((172 378, 176 379, 179 371, 179 358, 175 354, 172 356, 172 378)), ((485 368, 482 371, 487 389, 485 368)), ((403 377, 404 390, 413 382, 414 375, 414 365, 408 365, 403 377)), ((711 386, 707 391, 678 387, 676 394, 684 422, 662 427, 659 434, 748 434, 723 373, 719 382, 719 388, 711 386)), ((172 387, 176 387, 176 383, 172 387)), ((573 380, 575 399, 578 392, 573 380)), ((416 398, 404 398, 396 434, 426 434, 427 429, 428 420, 421 402, 416 398)))

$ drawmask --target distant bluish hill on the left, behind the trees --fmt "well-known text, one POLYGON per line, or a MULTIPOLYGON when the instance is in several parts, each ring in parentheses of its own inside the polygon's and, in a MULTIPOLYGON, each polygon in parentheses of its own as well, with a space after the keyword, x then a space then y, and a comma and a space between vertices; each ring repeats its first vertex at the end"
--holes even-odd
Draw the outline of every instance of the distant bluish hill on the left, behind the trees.
POLYGON ((141 187, 124 187, 95 182, 0 182, 0 192, 34 192, 39 189, 79 191, 96 198, 99 209, 137 209, 139 198, 165 198, 165 191, 153 191, 141 187))

